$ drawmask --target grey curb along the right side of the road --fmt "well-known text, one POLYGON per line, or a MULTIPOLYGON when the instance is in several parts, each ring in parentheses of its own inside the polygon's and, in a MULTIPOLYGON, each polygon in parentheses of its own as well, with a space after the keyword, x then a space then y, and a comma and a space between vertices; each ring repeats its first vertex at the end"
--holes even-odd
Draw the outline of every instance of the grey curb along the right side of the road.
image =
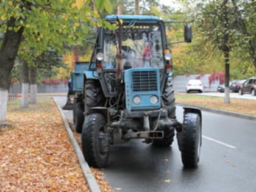
POLYGON ((230 116, 235 116, 237 118, 243 118, 243 119, 247 119, 247 120, 252 120, 252 121, 256 121, 256 116, 252 116, 252 115, 244 115, 241 113, 234 113, 234 112, 226 112, 223 110, 219 110, 219 109, 215 109, 215 108, 208 108, 208 107, 201 107, 198 105, 191 105, 191 104, 184 104, 184 103, 177 103, 176 104, 180 107, 196 107, 196 108, 200 108, 201 110, 205 111, 205 112, 212 112, 212 113, 219 113, 222 115, 230 115, 230 116))

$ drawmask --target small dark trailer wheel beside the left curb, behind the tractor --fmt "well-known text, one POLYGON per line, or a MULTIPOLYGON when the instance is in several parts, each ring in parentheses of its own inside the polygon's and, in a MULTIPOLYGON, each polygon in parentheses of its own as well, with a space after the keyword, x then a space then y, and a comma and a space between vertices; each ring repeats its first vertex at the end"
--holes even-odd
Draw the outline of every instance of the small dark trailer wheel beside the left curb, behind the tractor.
POLYGON ((77 102, 73 110, 74 127, 77 133, 82 132, 84 123, 84 105, 82 102, 77 102))

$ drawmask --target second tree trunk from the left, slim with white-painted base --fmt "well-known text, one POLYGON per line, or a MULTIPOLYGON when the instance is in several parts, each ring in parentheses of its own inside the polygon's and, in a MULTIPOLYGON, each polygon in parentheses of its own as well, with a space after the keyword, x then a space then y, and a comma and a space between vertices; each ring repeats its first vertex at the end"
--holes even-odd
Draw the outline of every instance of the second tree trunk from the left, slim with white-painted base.
POLYGON ((21 108, 29 107, 29 66, 27 62, 20 59, 21 63, 21 108))

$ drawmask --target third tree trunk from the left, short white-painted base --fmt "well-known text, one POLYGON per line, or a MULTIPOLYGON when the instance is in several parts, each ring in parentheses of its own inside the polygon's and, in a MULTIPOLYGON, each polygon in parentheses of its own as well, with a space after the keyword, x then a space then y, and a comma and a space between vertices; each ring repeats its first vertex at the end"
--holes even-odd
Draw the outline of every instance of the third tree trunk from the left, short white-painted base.
POLYGON ((30 104, 37 103, 37 68, 30 66, 29 68, 29 82, 30 82, 30 104))

